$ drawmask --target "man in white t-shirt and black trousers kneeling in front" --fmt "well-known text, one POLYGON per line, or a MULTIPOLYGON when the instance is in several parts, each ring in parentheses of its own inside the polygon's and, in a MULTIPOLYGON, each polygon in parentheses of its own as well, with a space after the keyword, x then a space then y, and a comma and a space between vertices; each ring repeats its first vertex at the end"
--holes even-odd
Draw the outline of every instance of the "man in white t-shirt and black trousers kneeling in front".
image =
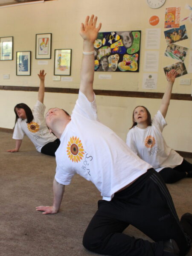
POLYGON ((103 199, 99 200, 98 210, 85 231, 84 247, 104 255, 185 255, 190 248, 192 215, 183 215, 181 220, 182 225, 189 227, 186 234, 158 173, 97 119, 93 43, 101 23, 96 27, 96 20, 92 15, 81 23, 80 34, 84 39, 81 83, 72 115, 59 108, 52 108, 46 114, 46 123, 61 144, 55 153, 53 205, 39 206, 36 210, 43 214, 57 213, 64 186, 77 173, 92 181, 103 199), (123 234, 129 224, 155 242, 123 234))

